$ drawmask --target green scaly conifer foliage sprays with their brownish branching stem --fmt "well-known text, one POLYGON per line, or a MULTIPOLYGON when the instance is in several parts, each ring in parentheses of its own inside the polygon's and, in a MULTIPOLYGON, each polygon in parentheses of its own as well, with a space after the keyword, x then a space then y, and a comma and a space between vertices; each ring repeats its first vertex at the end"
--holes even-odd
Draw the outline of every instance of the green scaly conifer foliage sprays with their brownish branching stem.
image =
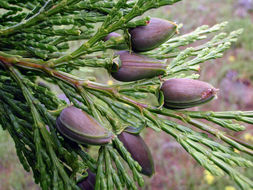
POLYGON ((138 132, 146 127, 164 131, 213 175, 227 173, 241 189, 253 187, 252 181, 235 168, 252 167, 252 162, 233 151, 236 148, 252 156, 252 145, 200 120, 240 131, 244 127, 237 121, 252 124, 252 111, 177 111, 162 108, 161 98, 160 106, 137 102, 141 93, 161 97, 159 88, 163 80, 197 78, 194 71, 199 70, 199 64, 221 57, 241 35, 241 29, 224 33, 227 23, 201 26, 145 52, 157 59, 172 58, 167 72, 160 78, 105 85, 83 80, 71 72, 87 67, 110 70, 117 59, 111 49, 127 49, 127 29, 147 24, 149 17, 133 19, 149 9, 177 1, 5 0, 0 3, 0 124, 12 136, 24 169, 33 171, 35 182, 42 189, 78 189, 77 180, 87 174, 88 168, 96 173, 96 189, 137 189, 136 183, 143 186, 140 165, 116 137, 128 126, 138 132), (103 41, 116 30, 126 35, 103 41), (209 35, 211 40, 182 50, 209 35), (81 46, 72 51, 70 42, 80 40, 81 46), (89 155, 85 146, 66 141, 58 133, 56 117, 68 105, 48 87, 39 85, 37 77, 59 86, 74 106, 114 133, 112 142, 99 148, 98 156, 89 155), (188 124, 194 128, 186 127, 188 124))

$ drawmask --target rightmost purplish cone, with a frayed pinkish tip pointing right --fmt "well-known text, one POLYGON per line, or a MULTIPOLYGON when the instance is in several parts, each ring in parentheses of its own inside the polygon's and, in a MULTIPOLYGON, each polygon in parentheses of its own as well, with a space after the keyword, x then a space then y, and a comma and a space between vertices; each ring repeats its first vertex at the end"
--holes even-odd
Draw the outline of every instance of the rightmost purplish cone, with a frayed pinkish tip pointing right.
POLYGON ((210 84, 193 79, 169 79, 162 84, 164 107, 184 109, 212 100, 217 90, 210 84))

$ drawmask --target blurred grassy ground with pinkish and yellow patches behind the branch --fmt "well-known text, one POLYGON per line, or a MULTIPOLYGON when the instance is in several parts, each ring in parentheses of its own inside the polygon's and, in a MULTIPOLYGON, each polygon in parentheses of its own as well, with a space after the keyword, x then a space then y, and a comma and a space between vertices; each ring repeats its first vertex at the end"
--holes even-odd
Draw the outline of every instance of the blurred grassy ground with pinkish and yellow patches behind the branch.
MULTIPOLYGON (((196 110, 253 110, 253 0, 182 1, 173 6, 151 10, 146 15, 183 23, 181 34, 200 25, 214 25, 223 21, 229 21, 226 32, 243 28, 243 34, 223 58, 201 65, 200 79, 208 81, 220 91, 217 100, 196 110)), ((90 75, 98 73, 94 70, 89 72, 90 75)), ((115 82, 108 76, 98 77, 98 81, 110 84, 115 82)), ((226 132, 253 143, 252 125, 248 125, 243 132, 226 132)), ((172 137, 150 129, 142 135, 151 149, 156 167, 156 174, 152 178, 145 177, 143 189, 239 189, 227 176, 217 178, 205 171, 172 137)), ((253 168, 242 169, 241 172, 253 180, 253 168)), ((12 139, 0 128, 0 190, 23 189, 39 187, 34 184, 32 174, 26 173, 19 163, 12 139)))

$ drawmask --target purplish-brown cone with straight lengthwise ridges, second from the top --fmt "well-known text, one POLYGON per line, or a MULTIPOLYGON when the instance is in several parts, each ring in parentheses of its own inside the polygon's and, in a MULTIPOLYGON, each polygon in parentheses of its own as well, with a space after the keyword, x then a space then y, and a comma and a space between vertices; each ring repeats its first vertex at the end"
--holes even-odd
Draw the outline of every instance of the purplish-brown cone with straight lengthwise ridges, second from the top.
POLYGON ((144 78, 151 78, 165 73, 166 64, 159 60, 152 59, 128 51, 120 51, 121 66, 116 72, 112 72, 113 78, 119 81, 128 82, 144 78))

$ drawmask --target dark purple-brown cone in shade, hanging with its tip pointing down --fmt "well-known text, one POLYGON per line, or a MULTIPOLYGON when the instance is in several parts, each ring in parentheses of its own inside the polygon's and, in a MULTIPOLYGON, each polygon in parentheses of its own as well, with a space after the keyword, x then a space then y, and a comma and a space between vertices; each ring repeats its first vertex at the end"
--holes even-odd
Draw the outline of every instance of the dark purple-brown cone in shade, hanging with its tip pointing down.
POLYGON ((153 157, 141 136, 122 132, 118 135, 118 138, 124 144, 132 158, 142 167, 141 173, 152 176, 155 173, 153 157))

